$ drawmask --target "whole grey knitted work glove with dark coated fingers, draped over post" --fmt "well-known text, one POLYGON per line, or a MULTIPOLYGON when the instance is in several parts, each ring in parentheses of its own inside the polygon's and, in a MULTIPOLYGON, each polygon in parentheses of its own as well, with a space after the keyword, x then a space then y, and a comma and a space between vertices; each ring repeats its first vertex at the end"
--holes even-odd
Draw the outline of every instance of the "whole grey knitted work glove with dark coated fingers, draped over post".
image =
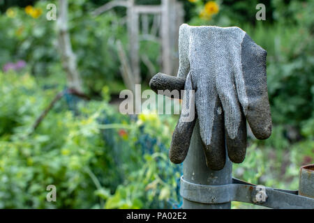
POLYGON ((196 116, 207 166, 214 170, 225 165, 225 143, 232 162, 244 160, 246 119, 257 139, 270 136, 266 54, 238 27, 180 26, 179 79, 170 81, 158 74, 150 83, 153 90, 177 83, 179 90, 185 79, 184 89, 195 91, 197 115, 193 121, 184 119, 194 112, 194 106, 189 104, 188 92, 183 95, 186 109, 172 135, 169 154, 172 162, 184 161, 196 116))

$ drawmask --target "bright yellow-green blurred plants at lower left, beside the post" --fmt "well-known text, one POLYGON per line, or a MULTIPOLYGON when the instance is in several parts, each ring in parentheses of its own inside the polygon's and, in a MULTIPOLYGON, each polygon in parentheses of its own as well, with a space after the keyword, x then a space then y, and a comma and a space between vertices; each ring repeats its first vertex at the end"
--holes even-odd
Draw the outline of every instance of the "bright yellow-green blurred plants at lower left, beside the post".
POLYGON ((28 74, 0 72, 0 80, 0 208, 160 208, 178 199, 180 173, 160 151, 175 120, 131 120, 106 100, 81 101, 75 115, 63 98, 29 135, 59 90, 41 90, 28 74), (56 203, 46 201, 50 184, 56 203))

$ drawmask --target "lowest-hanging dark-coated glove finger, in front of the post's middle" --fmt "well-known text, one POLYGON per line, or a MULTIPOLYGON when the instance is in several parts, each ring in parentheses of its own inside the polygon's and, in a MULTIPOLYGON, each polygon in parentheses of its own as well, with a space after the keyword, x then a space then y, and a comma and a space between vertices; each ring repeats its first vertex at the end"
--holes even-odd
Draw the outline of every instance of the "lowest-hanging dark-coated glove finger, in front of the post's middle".
POLYGON ((202 139, 207 167, 212 170, 220 170, 225 167, 225 130, 223 123, 223 111, 218 97, 214 109, 214 122, 211 130, 211 142, 209 145, 202 139))

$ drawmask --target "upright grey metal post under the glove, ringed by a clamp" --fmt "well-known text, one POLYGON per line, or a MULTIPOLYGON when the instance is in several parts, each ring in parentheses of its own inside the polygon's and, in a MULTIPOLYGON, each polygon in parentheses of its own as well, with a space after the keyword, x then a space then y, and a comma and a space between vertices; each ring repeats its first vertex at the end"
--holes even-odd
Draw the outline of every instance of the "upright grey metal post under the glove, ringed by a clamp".
MULTIPOLYGON (((226 156, 227 157, 227 156, 226 156)), ((190 148, 184 160, 184 180, 199 185, 227 185, 232 183, 232 162, 227 157, 225 167, 220 171, 213 171, 206 165, 200 138, 200 125, 195 124, 190 141, 190 148)), ((230 209, 231 202, 207 204, 184 199, 184 209, 230 209)))

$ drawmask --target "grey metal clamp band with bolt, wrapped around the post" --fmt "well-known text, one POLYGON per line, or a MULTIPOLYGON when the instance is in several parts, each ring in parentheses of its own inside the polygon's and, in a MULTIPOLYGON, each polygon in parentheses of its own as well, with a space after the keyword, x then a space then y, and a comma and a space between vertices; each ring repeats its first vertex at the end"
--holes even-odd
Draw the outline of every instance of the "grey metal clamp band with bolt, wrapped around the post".
POLYGON ((199 185, 189 183, 181 176, 180 194, 197 203, 227 203, 241 201, 269 208, 314 208, 314 199, 298 195, 297 190, 264 187, 264 199, 259 199, 260 186, 232 178, 227 185, 199 185))

